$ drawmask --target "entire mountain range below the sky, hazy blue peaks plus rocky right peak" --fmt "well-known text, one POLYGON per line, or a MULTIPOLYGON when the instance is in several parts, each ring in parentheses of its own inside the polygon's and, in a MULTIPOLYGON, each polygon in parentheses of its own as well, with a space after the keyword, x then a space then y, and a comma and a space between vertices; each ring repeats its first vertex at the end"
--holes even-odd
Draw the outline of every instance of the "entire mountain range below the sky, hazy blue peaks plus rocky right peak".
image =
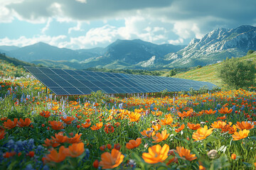
POLYGON ((18 60, 48 67, 86 69, 152 69, 214 64, 226 57, 242 57, 256 50, 256 27, 218 28, 188 45, 156 45, 142 40, 117 40, 105 48, 70 50, 43 42, 26 47, 0 46, 18 60))

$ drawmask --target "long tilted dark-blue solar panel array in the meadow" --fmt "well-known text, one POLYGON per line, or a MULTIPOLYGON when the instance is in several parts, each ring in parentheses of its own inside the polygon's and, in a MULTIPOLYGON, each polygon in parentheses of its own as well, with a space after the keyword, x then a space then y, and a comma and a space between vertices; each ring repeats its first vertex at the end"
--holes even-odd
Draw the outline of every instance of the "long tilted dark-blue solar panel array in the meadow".
POLYGON ((134 94, 160 91, 199 90, 202 86, 212 89, 214 84, 146 75, 90 72, 82 70, 55 69, 46 67, 25 67, 33 77, 48 87, 54 94, 85 95, 92 91, 103 91, 105 94, 134 94))

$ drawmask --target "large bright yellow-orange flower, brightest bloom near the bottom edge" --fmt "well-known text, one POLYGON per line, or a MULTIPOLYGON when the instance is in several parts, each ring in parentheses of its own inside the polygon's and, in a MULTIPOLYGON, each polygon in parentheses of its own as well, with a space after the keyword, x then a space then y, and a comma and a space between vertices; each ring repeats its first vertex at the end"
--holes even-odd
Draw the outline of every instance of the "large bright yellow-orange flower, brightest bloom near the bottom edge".
POLYGON ((153 147, 149 147, 149 153, 143 153, 142 158, 146 163, 156 164, 159 162, 164 162, 168 157, 169 145, 164 144, 163 147, 160 145, 154 145, 153 147))

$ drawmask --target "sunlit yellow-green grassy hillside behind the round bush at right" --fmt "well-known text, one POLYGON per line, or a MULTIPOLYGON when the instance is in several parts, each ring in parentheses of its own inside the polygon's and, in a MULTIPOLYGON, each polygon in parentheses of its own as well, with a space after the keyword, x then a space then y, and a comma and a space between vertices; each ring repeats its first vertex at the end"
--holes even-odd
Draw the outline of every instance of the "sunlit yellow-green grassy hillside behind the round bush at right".
MULTIPOLYGON (((250 55, 246 55, 245 57, 240 57, 241 61, 243 60, 250 60, 256 64, 256 52, 253 52, 250 55)), ((182 79, 193 79, 197 81, 208 81, 213 83, 217 86, 225 88, 225 85, 221 83, 220 78, 218 78, 218 68, 220 67, 220 63, 211 64, 205 67, 201 67, 199 69, 192 69, 188 72, 183 72, 176 74, 174 77, 182 78, 182 79)))

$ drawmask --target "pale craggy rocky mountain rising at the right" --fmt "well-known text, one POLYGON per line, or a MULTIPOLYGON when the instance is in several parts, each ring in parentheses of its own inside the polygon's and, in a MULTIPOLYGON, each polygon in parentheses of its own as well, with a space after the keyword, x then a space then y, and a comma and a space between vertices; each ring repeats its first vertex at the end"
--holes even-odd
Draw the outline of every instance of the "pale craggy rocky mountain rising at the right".
POLYGON ((218 28, 193 39, 187 47, 171 52, 161 62, 165 67, 194 67, 220 62, 226 57, 242 57, 256 50, 256 27, 218 28))

